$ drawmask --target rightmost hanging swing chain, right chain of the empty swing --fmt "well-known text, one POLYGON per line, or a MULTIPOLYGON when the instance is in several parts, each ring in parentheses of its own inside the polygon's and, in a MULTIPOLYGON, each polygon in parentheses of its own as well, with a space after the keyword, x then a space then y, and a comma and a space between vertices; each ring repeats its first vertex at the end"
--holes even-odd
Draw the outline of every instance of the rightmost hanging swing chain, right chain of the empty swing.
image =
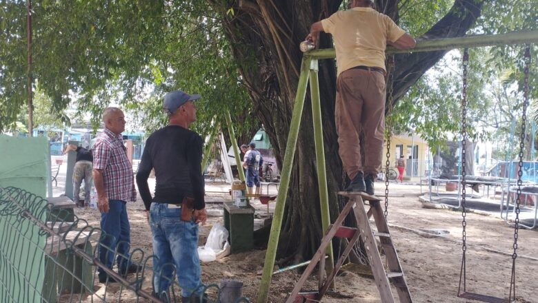
POLYGON ((530 46, 526 45, 525 55, 524 55, 524 80, 523 80, 523 114, 521 115, 521 141, 519 143, 519 169, 517 171, 517 199, 515 205, 516 218, 514 220, 514 252, 512 253, 512 259, 517 258, 517 238, 519 231, 519 205, 521 203, 521 176, 523 176, 523 157, 524 157, 524 147, 525 147, 525 132, 526 132, 526 121, 527 121, 527 107, 528 107, 528 70, 530 66, 530 46))

